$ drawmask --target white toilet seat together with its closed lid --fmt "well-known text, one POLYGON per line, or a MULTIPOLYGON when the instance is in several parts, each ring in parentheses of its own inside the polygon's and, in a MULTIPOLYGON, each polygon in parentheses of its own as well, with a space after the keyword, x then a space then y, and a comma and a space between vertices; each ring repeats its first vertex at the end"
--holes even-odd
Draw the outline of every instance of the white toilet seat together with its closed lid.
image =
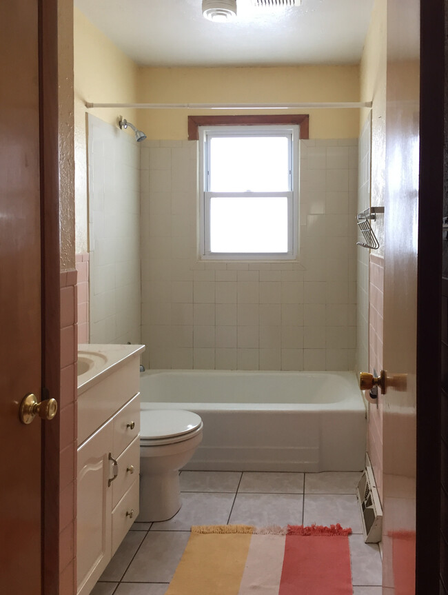
POLYGON ((201 418, 191 411, 150 409, 140 414, 140 445, 160 446, 193 438, 202 432, 201 418))

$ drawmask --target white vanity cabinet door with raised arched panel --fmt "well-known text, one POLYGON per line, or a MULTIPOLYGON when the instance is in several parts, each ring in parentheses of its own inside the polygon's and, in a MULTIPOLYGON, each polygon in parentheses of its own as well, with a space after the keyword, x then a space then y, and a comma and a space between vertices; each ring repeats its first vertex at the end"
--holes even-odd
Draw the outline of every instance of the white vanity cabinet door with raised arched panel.
POLYGON ((78 450, 78 594, 88 594, 111 557, 112 420, 78 450))

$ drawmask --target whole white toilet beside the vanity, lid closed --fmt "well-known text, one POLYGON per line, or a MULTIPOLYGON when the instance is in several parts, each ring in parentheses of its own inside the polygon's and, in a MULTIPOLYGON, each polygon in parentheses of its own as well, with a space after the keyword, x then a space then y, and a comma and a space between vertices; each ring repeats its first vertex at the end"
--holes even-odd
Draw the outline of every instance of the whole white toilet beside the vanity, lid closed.
POLYGON ((181 507, 179 469, 202 441, 203 423, 191 411, 140 413, 139 521, 166 521, 181 507))

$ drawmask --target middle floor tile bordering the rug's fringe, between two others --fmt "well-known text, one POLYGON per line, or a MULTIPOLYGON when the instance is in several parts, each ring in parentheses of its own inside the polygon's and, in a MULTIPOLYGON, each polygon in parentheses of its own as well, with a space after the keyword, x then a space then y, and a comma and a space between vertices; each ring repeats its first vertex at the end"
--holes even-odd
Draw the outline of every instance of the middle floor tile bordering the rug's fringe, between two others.
POLYGON ((301 525, 303 496, 299 494, 237 494, 231 525, 301 525))

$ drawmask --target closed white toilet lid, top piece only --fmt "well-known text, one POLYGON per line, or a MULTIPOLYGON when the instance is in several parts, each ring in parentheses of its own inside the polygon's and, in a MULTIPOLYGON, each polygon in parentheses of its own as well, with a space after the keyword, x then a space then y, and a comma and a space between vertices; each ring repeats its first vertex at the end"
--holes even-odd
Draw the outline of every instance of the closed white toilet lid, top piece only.
POLYGON ((170 438, 193 432, 202 423, 192 411, 148 409, 140 414, 141 438, 170 438))

